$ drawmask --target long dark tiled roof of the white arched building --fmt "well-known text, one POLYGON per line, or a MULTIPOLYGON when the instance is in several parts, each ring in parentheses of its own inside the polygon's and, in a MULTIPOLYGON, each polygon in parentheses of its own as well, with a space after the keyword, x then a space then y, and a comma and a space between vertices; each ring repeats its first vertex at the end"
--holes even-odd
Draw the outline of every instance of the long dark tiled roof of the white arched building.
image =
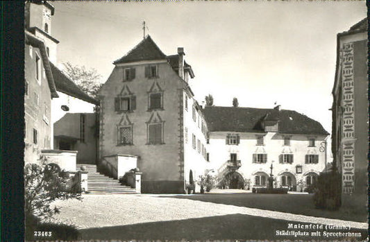
POLYGON ((270 117, 278 119, 280 133, 328 135, 319 122, 293 110, 205 106, 202 111, 211 132, 264 132, 262 121, 270 117))

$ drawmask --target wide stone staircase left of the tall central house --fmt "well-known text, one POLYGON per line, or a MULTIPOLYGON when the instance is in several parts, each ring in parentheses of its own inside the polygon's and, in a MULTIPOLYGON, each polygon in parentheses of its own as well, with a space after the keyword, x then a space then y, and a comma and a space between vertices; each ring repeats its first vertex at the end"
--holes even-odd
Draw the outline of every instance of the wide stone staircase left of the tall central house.
POLYGON ((128 194, 136 190, 121 184, 119 180, 103 175, 96 170, 95 164, 76 164, 77 171, 82 171, 85 166, 87 171, 87 193, 90 194, 128 194))

